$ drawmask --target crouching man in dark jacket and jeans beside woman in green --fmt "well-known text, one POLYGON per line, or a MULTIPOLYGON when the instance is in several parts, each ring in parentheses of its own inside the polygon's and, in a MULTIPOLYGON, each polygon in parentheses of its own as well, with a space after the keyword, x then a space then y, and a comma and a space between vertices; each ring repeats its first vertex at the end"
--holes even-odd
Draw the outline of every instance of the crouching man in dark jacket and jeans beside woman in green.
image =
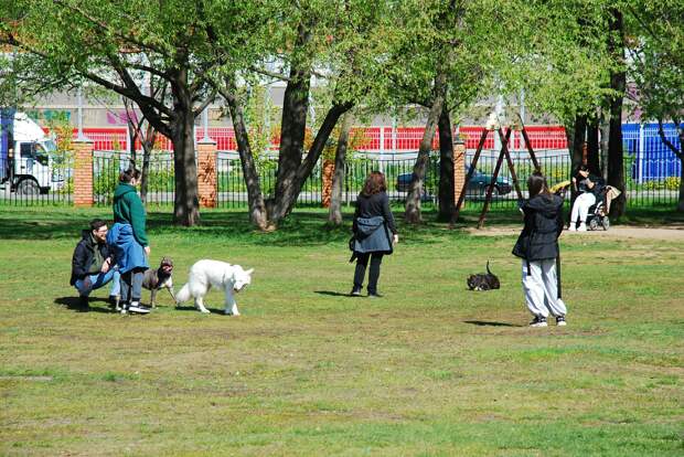
POLYGON ((82 235, 74 249, 70 280, 78 290, 78 305, 88 308, 90 293, 109 281, 109 300, 117 300, 120 290, 119 272, 107 244, 107 223, 101 219, 94 219, 90 221, 90 230, 84 230, 82 235))

